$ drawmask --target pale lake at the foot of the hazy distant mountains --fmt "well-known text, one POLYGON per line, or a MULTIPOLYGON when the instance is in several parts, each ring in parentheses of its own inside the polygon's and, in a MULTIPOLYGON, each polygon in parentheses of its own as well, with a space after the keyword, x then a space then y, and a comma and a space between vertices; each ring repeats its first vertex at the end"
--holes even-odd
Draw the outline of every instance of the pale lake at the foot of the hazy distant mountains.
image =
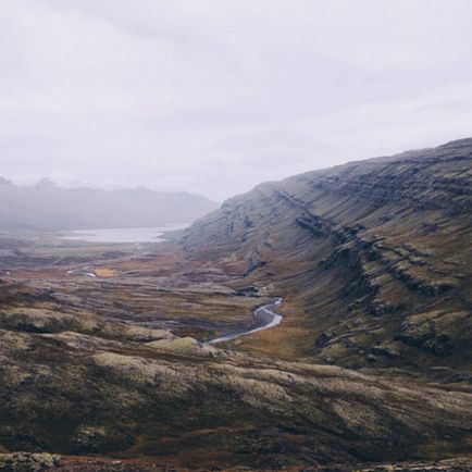
POLYGON ((188 224, 169 224, 160 227, 119 227, 72 231, 61 235, 63 239, 87 243, 162 243, 169 231, 184 229, 188 224))

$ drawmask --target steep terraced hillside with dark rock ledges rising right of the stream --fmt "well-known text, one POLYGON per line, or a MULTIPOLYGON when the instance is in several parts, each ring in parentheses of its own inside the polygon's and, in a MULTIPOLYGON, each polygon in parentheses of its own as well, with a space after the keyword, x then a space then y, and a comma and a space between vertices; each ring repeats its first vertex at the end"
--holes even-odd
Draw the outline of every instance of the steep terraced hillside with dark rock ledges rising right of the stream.
POLYGON ((243 346, 349 368, 470 378, 472 139, 266 183, 186 233, 208 259, 285 297, 243 346))

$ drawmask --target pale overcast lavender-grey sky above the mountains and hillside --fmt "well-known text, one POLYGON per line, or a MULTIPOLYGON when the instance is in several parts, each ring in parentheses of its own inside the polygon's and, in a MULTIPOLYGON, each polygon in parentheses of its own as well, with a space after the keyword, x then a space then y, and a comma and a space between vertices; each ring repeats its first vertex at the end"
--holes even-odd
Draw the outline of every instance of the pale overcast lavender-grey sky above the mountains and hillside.
POLYGON ((0 175, 223 200, 472 136, 470 0, 2 0, 0 175))

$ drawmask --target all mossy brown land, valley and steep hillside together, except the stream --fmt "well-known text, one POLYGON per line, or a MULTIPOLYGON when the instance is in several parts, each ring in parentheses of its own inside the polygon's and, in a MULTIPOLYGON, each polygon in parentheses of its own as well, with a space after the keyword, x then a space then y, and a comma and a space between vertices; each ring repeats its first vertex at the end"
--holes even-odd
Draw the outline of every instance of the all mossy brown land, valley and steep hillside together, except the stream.
POLYGON ((471 470, 471 164, 262 184, 162 245, 0 237, 0 470, 471 470))

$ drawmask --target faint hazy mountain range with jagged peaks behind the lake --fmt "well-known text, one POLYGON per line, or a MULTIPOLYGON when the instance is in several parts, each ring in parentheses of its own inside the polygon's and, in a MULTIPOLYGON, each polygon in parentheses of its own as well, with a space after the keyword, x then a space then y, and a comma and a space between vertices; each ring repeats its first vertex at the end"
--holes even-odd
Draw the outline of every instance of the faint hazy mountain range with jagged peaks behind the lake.
POLYGON ((200 195, 146 188, 21 187, 0 177, 1 231, 65 231, 191 223, 219 204, 200 195))

